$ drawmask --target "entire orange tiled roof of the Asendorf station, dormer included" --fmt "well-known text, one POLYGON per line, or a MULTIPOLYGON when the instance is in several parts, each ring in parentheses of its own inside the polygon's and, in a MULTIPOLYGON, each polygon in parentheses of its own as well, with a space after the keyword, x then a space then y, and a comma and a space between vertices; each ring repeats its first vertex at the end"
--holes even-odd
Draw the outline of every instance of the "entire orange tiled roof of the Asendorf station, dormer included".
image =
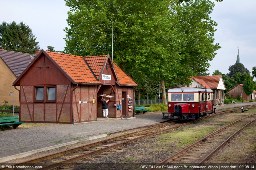
MULTIPOLYGON (((69 54, 55 53, 45 51, 75 82, 77 83, 100 83, 94 77, 99 77, 101 70, 103 69, 106 55, 102 56, 74 56, 69 54), (84 60, 86 62, 84 62, 84 60), (94 75, 93 75, 93 73, 94 75)), ((120 85, 138 86, 131 77, 129 77, 120 67, 114 62, 115 72, 118 77, 120 85)))

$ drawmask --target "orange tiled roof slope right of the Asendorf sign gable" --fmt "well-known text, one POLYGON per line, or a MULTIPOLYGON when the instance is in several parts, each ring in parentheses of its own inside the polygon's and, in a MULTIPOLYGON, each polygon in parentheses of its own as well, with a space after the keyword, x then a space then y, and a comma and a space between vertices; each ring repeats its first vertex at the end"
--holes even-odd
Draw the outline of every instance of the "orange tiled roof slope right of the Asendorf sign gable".
POLYGON ((118 82, 121 84, 121 85, 134 85, 134 86, 138 86, 137 83, 135 83, 131 77, 129 77, 118 65, 116 65, 116 63, 114 63, 114 66, 115 66, 115 72, 116 72, 116 75, 118 77, 118 82))

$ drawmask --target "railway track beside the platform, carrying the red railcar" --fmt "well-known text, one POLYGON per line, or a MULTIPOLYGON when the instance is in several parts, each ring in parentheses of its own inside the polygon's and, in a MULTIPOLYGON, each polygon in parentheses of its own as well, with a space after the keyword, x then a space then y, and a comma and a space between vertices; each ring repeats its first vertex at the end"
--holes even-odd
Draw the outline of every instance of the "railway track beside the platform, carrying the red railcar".
MULTIPOLYGON (((256 106, 247 107, 245 109, 251 109, 251 108, 255 108, 255 107, 256 106)), ((231 109, 231 110, 221 111, 221 112, 218 112, 215 114, 210 114, 207 117, 203 117, 203 118, 200 118, 195 121, 200 121, 203 119, 207 119, 208 117, 212 117, 212 116, 224 114, 224 113, 229 113, 229 112, 234 112, 234 111, 238 111, 238 110, 241 110, 241 109, 231 109)), ((150 125, 153 127, 150 127, 150 128, 144 129, 144 130, 140 130, 137 132, 113 137, 110 139, 106 139, 106 140, 98 141, 98 142, 91 143, 88 145, 68 149, 68 150, 57 152, 54 154, 49 154, 49 155, 42 156, 42 157, 32 159, 29 161, 17 163, 14 165, 15 166, 28 166, 28 165, 42 166, 42 168, 40 168, 40 169, 52 169, 52 168, 56 168, 56 167, 63 166, 65 164, 77 161, 77 160, 86 159, 89 156, 96 155, 96 154, 99 154, 102 152, 115 152, 115 151, 111 151, 111 149, 114 149, 114 148, 121 150, 124 147, 126 148, 126 147, 130 147, 130 146, 134 146, 134 145, 138 144, 139 142, 141 142, 140 140, 143 138, 147 138, 147 137, 154 138, 155 135, 170 131, 174 128, 184 126, 189 123, 193 123, 195 121, 191 121, 191 122, 187 122, 187 123, 183 123, 183 124, 179 124, 177 122, 165 122, 165 123, 154 124, 154 125, 150 125)), ((145 127, 145 126, 138 127, 138 128, 143 128, 143 127, 145 127)), ((134 128, 134 129, 137 129, 137 128, 134 128)), ((131 130, 131 129, 129 129, 129 130, 131 130)), ((124 132, 124 131, 119 131, 119 132, 124 132)), ((114 133, 117 133, 117 132, 114 132, 114 133)), ((14 166, 12 165, 12 167, 14 167, 14 166)), ((13 168, 5 168, 5 169, 13 169, 13 168)))

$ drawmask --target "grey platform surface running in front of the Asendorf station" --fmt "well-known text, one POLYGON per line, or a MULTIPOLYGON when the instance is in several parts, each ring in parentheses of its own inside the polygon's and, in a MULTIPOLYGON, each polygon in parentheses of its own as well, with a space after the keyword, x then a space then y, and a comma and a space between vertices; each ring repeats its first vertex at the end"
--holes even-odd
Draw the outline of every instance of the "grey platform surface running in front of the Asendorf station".
MULTIPOLYGON (((241 106, 256 105, 256 102, 244 102, 215 106, 216 111, 241 106)), ((78 139, 116 132, 134 127, 162 122, 162 112, 135 115, 136 119, 98 118, 98 121, 77 124, 47 124, 38 127, 9 129, 0 131, 0 158, 28 152, 31 150, 55 146, 78 139)))

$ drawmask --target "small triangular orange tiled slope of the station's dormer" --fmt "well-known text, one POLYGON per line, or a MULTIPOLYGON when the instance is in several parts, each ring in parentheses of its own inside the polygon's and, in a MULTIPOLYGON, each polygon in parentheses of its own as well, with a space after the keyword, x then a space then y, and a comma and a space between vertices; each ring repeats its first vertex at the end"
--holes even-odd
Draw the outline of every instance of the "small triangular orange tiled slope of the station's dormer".
POLYGON ((106 55, 104 56, 87 56, 84 59, 87 61, 89 66, 91 67, 95 76, 99 79, 100 72, 106 60, 106 55))

